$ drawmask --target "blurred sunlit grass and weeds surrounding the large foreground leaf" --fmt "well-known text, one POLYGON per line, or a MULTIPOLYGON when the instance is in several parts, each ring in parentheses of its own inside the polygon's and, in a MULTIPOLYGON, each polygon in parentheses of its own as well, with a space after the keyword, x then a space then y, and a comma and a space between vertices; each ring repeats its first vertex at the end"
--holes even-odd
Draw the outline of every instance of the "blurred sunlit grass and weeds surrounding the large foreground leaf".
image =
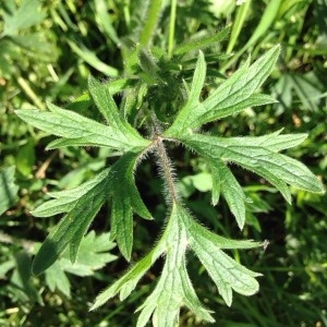
MULTIPOLYGON (((2 1, 0 5, 1 326, 135 325, 132 313, 155 282, 159 264, 131 298, 124 302, 114 299, 97 312, 87 312, 98 291, 126 268, 109 242, 110 210, 106 208, 92 226, 96 233, 88 233, 77 265, 72 266, 63 256, 45 275, 31 277, 32 256, 59 217, 35 218, 29 211, 48 198, 48 191, 80 185, 111 158, 104 149, 94 148, 46 152, 51 136, 25 124, 13 110, 44 109, 46 101, 52 101, 88 117, 97 114, 83 106, 88 74, 105 81, 130 76, 133 72, 126 71, 126 62, 135 60, 132 52, 137 44, 150 39, 156 51, 168 49, 170 53, 181 44, 216 35, 230 24, 231 32, 223 41, 203 48, 211 56, 208 74, 213 82, 231 74, 250 52, 255 59, 280 44, 279 62, 264 86, 264 92, 279 102, 247 109, 208 129, 223 136, 261 135, 280 129, 308 133, 308 138, 289 154, 326 183, 326 0, 253 0, 242 5, 232 0, 25 0, 2 1)), ((193 55, 189 58, 190 75, 193 55)), ((185 71, 183 77, 187 77, 185 71)), ((171 78, 171 85, 181 77, 178 73, 165 76, 171 78)), ((146 68, 142 78, 150 78, 146 68)), ((169 120, 167 112, 173 116, 182 101, 179 89, 171 90, 171 85, 159 95, 154 89, 149 97, 162 120, 169 120), (175 107, 167 111, 164 105, 172 99, 175 107)), ((130 94, 119 94, 117 101, 130 101, 131 110, 135 110, 143 92, 135 83, 130 94)), ((230 308, 198 264, 189 259, 198 296, 216 311, 217 326, 327 326, 326 196, 293 190, 293 206, 289 206, 264 181, 235 167, 233 171, 251 199, 241 233, 223 201, 215 208, 207 205, 209 177, 202 160, 192 153, 174 153, 173 157, 182 168, 182 195, 207 226, 237 239, 269 240, 264 252, 242 252, 242 262, 264 274, 259 293, 251 298, 234 294, 230 308)), ((142 167, 137 185, 157 220, 136 220, 135 259, 150 249, 161 230, 165 208, 159 184, 154 167, 142 167)), ((234 253, 235 258, 239 255, 234 253)), ((202 323, 185 311, 181 326, 202 323)))

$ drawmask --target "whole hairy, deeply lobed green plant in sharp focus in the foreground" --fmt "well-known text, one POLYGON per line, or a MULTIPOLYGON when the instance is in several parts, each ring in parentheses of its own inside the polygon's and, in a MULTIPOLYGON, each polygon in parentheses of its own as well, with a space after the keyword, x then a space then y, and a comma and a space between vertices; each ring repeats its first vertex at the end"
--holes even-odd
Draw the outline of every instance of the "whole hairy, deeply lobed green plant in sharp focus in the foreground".
MULTIPOLYGON (((184 45, 175 50, 175 56, 194 50, 196 44, 190 45, 190 49, 184 45)), ((153 53, 156 51, 158 53, 158 49, 154 49, 153 53)), ((303 142, 305 134, 281 134, 281 131, 277 131, 258 137, 220 137, 201 131, 205 124, 239 113, 249 107, 276 101, 271 96, 257 94, 256 90, 274 69, 279 51, 279 46, 276 46, 251 65, 247 59, 233 75, 207 96, 203 93, 206 59, 199 51, 192 82, 183 80, 186 99, 181 109, 177 110, 167 109, 165 104, 161 104, 159 109, 135 111, 135 108, 141 108, 146 100, 150 102, 147 97, 150 98, 153 89, 159 95, 162 89, 169 92, 171 78, 171 75, 162 72, 160 60, 153 60, 150 51, 140 48, 135 49, 135 56, 131 57, 132 63, 128 63, 133 68, 133 73, 136 72, 142 76, 137 82, 138 86, 133 84, 135 78, 105 84, 92 76, 88 80, 92 101, 97 106, 106 123, 52 104, 48 104, 49 111, 17 110, 17 116, 27 123, 60 136, 48 145, 48 149, 98 146, 118 152, 120 155, 113 165, 92 180, 72 190, 50 193, 53 199, 33 211, 37 217, 65 214, 43 243, 34 259, 33 272, 38 275, 52 266, 66 247, 71 261, 75 262, 80 244, 93 219, 109 199, 110 240, 116 241, 121 254, 126 261, 131 261, 133 215, 153 219, 138 193, 134 174, 136 168, 145 159, 148 160, 149 155, 154 155, 165 182, 167 222, 164 232, 148 254, 96 298, 90 310, 97 308, 117 294, 120 295, 120 300, 126 299, 153 264, 159 257, 164 257, 165 264, 158 282, 137 310, 140 312, 137 326, 145 326, 149 319, 154 326, 175 326, 182 306, 186 306, 206 322, 214 322, 210 311, 197 298, 187 275, 186 256, 190 251, 198 257, 227 305, 232 303, 232 291, 244 295, 256 293, 259 288, 256 277, 261 274, 242 266, 225 251, 263 246, 264 243, 223 238, 196 221, 180 196, 177 172, 173 160, 168 155, 167 144, 183 146, 205 159, 213 177, 211 204, 217 205, 221 194, 240 229, 243 229, 245 223, 247 198, 233 175, 230 164, 237 164, 264 178, 278 189, 288 203, 291 203, 289 185, 323 193, 323 184, 304 165, 280 154, 281 150, 303 142), (138 66, 135 68, 137 62, 138 66), (131 107, 133 96, 130 93, 122 101, 122 107, 118 108, 112 95, 124 90, 129 83, 140 92, 138 102, 136 106, 134 102, 131 107), (150 131, 149 135, 143 136, 131 121, 141 121, 138 126, 142 131, 146 126, 150 131)), ((162 53, 159 53, 158 58, 164 58, 162 53)), ((175 62, 173 60, 171 62, 175 68, 175 62)), ((177 94, 174 89, 170 92, 177 94)), ((90 98, 84 95, 80 100, 89 102, 90 98)))

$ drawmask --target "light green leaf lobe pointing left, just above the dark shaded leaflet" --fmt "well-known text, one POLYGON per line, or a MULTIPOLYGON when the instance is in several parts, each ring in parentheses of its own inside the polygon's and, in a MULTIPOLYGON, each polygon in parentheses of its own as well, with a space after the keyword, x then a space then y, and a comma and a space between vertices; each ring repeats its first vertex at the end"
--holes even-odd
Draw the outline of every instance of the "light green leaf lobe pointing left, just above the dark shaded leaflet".
POLYGON ((50 143, 49 147, 80 145, 105 146, 119 150, 132 150, 144 148, 149 144, 138 137, 133 140, 117 131, 114 128, 100 124, 76 112, 61 109, 48 104, 50 111, 16 110, 16 114, 35 128, 66 140, 50 143))

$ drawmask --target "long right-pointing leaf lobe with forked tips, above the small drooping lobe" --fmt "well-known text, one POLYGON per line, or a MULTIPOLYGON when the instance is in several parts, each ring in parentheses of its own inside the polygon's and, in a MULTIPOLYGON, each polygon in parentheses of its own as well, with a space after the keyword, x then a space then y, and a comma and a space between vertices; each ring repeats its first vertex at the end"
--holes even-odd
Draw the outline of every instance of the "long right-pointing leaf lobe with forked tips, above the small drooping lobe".
MULTIPOLYGON (((259 138, 258 143, 255 142, 255 137, 244 137, 243 143, 241 137, 222 138, 189 133, 180 141, 209 159, 210 162, 217 159, 235 162, 262 175, 275 185, 288 202, 291 202, 291 196, 287 184, 310 192, 323 193, 323 184, 303 164, 276 153, 280 148, 298 144, 299 137, 295 136, 292 140, 289 135, 287 137, 275 135, 275 145, 271 135, 259 138)), ((302 138, 303 136, 300 137, 302 138)))

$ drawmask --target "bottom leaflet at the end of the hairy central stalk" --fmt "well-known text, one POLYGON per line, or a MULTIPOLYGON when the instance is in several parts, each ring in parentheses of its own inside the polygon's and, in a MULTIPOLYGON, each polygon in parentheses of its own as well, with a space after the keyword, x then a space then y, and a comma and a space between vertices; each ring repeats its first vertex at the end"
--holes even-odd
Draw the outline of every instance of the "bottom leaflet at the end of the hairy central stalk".
POLYGON ((226 255, 221 249, 251 249, 259 245, 262 244, 252 241, 235 241, 218 237, 195 222, 181 205, 173 204, 167 229, 156 247, 100 293, 90 310, 105 304, 118 292, 121 300, 125 299, 153 263, 165 254, 166 261, 160 279, 152 294, 137 308, 141 312, 137 327, 145 326, 150 317, 154 326, 175 326, 182 305, 187 306, 199 318, 213 323, 210 312, 199 302, 187 276, 185 265, 187 247, 198 255, 222 298, 230 305, 232 289, 247 295, 258 290, 255 277, 259 274, 244 268, 226 255), (203 246, 207 247, 203 250, 203 246))

